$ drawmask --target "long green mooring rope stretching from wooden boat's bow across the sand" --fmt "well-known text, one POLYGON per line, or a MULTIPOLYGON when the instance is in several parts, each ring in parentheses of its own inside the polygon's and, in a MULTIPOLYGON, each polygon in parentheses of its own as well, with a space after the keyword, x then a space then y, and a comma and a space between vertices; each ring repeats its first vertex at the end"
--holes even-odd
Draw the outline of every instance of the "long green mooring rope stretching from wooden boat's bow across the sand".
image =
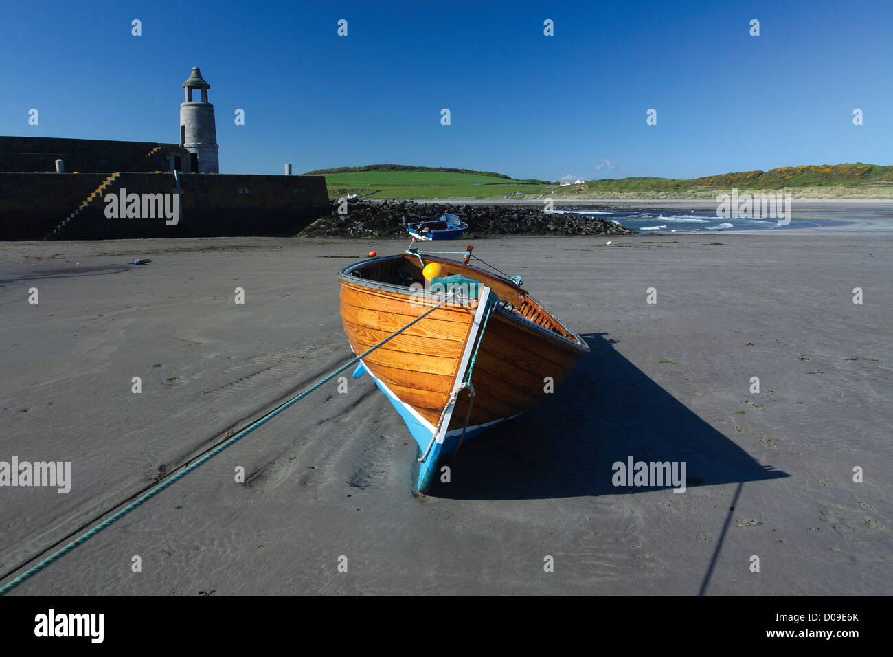
POLYGON ((99 525, 96 525, 95 527, 93 527, 93 529, 88 531, 86 534, 78 536, 78 538, 71 541, 71 543, 66 544, 65 547, 63 547, 61 550, 54 552, 49 557, 47 557, 45 560, 42 560, 40 563, 38 563, 37 566, 25 571, 19 577, 16 577, 15 579, 13 579, 12 582, 10 582, 7 585, 4 585, 3 588, 0 588, 0 595, 9 593, 10 591, 13 590, 13 588, 20 585, 26 579, 29 579, 29 577, 33 577, 34 575, 37 575, 41 570, 45 569, 47 566, 49 566, 55 560, 62 558, 65 554, 74 550, 81 543, 86 543, 90 538, 93 538, 93 536, 99 534, 99 532, 101 532, 103 529, 105 529, 105 527, 112 525, 117 520, 120 520, 121 518, 126 516, 130 511, 136 509, 138 506, 140 506, 144 502, 151 500, 155 495, 157 495, 158 493, 161 493, 165 488, 167 488, 174 482, 178 481, 179 479, 182 479, 184 476, 187 476, 190 472, 195 470, 196 467, 199 467, 203 463, 206 463, 207 461, 213 459, 215 456, 220 454, 221 451, 230 447, 230 445, 242 440, 242 438, 244 438, 247 434, 250 434, 251 432, 253 432, 258 426, 266 424, 273 417, 278 416, 283 410, 288 409, 290 406, 294 405, 297 401, 304 399, 308 394, 310 394, 311 392, 320 388, 321 385, 323 385, 325 383, 329 383, 332 379, 334 379, 336 376, 338 376, 339 374, 344 372, 349 366, 354 365, 361 358, 365 358, 366 356, 371 354, 372 351, 379 349, 386 342, 393 340, 394 338, 396 338, 397 335, 399 335, 400 333, 403 333, 410 326, 412 326, 416 322, 421 321, 421 319, 423 319, 425 316, 429 316, 431 313, 433 313, 435 310, 437 310, 438 307, 441 307, 445 303, 447 303, 447 301, 450 299, 450 297, 452 297, 455 294, 455 290, 456 290, 456 288, 454 288, 454 291, 450 291, 444 300, 440 301, 436 306, 432 307, 430 310, 427 310, 426 312, 422 313, 420 316, 413 319, 412 322, 410 322, 409 324, 406 324, 403 328, 399 329, 398 331, 395 331, 394 333, 391 333, 390 335, 388 335, 387 338, 380 341, 378 344, 374 345, 369 350, 364 351, 359 356, 356 356, 355 358, 351 358, 350 360, 348 360, 346 362, 345 365, 338 367, 338 369, 335 370, 334 372, 332 372, 330 375, 321 379, 317 383, 313 383, 313 385, 310 386, 309 388, 307 388, 304 392, 298 393, 296 396, 294 396, 290 400, 286 401, 284 404, 282 404, 277 409, 271 410, 265 416, 263 416, 259 420, 257 420, 254 424, 246 426, 245 429, 240 431, 238 434, 234 435, 227 442, 221 443, 221 445, 219 445, 215 450, 209 451, 207 454, 204 455, 204 457, 202 457, 201 459, 198 459, 192 465, 186 467, 181 472, 177 473, 175 476, 171 476, 170 479, 167 479, 166 481, 162 482, 161 484, 158 484, 151 491, 140 496, 136 501, 133 501, 128 506, 124 507, 123 509, 118 511, 116 514, 114 514, 112 516, 112 518, 108 518, 108 519, 104 520, 99 525))

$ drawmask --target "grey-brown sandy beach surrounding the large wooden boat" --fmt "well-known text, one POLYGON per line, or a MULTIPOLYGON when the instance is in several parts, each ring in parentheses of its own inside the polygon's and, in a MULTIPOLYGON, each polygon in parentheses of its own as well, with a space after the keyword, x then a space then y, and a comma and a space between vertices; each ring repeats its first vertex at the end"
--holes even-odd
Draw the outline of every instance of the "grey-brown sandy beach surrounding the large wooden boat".
MULTIPOLYGON (((893 594, 893 233, 862 228, 474 240, 591 354, 450 483, 413 496, 402 420, 332 382, 14 594, 893 594), (685 493, 615 487, 628 457, 685 493)), ((4 243, 0 460, 71 492, 0 488, 0 573, 345 363, 338 268, 406 243, 4 243)))

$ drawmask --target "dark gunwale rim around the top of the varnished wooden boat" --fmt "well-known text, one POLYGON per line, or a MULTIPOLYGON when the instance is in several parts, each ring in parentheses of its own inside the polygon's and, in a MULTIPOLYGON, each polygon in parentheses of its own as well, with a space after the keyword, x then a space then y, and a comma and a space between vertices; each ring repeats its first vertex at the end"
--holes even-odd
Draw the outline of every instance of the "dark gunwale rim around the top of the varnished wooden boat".
MULTIPOLYGON (((356 269, 360 269, 364 265, 387 262, 388 260, 398 260, 400 258, 405 258, 407 255, 415 255, 415 254, 398 253, 394 256, 366 258, 365 260, 356 262, 353 265, 347 265, 346 267, 342 267, 340 270, 338 270, 338 280, 340 282, 343 282, 346 284, 353 284, 356 287, 370 288, 372 290, 380 290, 380 291, 384 291, 384 292, 390 292, 392 294, 396 294, 396 295, 403 296, 403 297, 410 297, 412 295, 408 293, 408 291, 407 291, 408 288, 405 287, 404 285, 395 285, 392 283, 371 281, 370 279, 360 278, 358 276, 350 275, 350 274, 353 274, 356 269)), ((549 310, 549 308, 547 308, 546 306, 541 304, 537 299, 534 299, 530 295, 530 292, 528 292, 525 289, 516 285, 515 282, 512 281, 511 279, 505 278, 505 276, 500 276, 498 274, 491 274, 489 272, 485 272, 484 270, 479 269, 478 267, 475 267, 472 265, 465 265, 462 262, 450 260, 446 257, 431 257, 431 256, 428 256, 427 254, 424 254, 423 252, 420 252, 418 255, 423 256, 423 257, 427 258, 428 260, 443 262, 443 263, 447 263, 449 265, 461 265, 463 267, 471 269, 472 271, 480 272, 480 274, 482 274, 485 277, 490 277, 490 278, 496 279, 497 281, 501 281, 508 285, 512 285, 514 288, 521 291, 528 299, 530 299, 535 304, 537 304, 537 306, 540 307, 540 309, 545 311, 548 314, 548 316, 550 316, 553 320, 555 320, 555 323, 558 324, 559 326, 561 326, 561 328, 566 333, 569 333, 570 335, 572 335, 572 338, 565 337, 564 335, 562 335, 560 333, 555 333, 555 331, 550 331, 547 328, 543 328, 539 324, 531 322, 530 319, 528 319, 527 317, 515 315, 512 311, 506 310, 504 307, 497 306, 495 312, 500 317, 502 317, 506 321, 516 324, 519 328, 522 328, 523 330, 537 333, 538 335, 548 338, 550 341, 553 341, 553 342, 557 343, 558 345, 561 345, 562 347, 571 348, 572 350, 579 353, 580 356, 584 356, 589 353, 589 345, 585 340, 583 340, 580 337, 580 335, 578 335, 575 331, 573 331, 572 328, 570 328, 567 324, 564 324, 563 321, 561 319, 559 319, 558 316, 555 315, 555 313, 553 313, 551 310, 549 310)), ((439 295, 436 297, 433 294, 431 294, 430 291, 427 291, 427 290, 424 291, 424 299, 426 299, 426 301, 430 301, 431 305, 435 305, 443 300, 443 299, 439 298, 439 295)))

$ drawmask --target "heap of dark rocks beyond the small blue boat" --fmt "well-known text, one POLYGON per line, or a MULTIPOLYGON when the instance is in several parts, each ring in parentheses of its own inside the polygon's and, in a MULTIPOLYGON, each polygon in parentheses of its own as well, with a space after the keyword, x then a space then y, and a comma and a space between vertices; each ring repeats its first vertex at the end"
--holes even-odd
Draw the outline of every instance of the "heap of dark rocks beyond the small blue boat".
POLYGON ((348 201, 347 214, 332 202, 329 215, 307 226, 301 237, 406 237, 406 224, 459 215, 469 229, 463 238, 505 235, 634 235, 635 231, 592 215, 547 214, 542 208, 451 206, 412 201, 348 201))

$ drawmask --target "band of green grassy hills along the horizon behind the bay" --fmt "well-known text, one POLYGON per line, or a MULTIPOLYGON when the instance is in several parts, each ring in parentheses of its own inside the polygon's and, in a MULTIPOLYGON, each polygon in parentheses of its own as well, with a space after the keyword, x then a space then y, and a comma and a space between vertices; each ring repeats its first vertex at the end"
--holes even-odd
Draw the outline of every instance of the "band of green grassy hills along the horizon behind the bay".
POLYGON ((724 173, 693 180, 622 178, 560 187, 556 182, 515 180, 465 169, 372 164, 316 172, 331 198, 714 198, 722 190, 784 190, 797 198, 893 198, 893 166, 823 164, 769 171, 724 173), (519 195, 516 192, 521 191, 519 195))

